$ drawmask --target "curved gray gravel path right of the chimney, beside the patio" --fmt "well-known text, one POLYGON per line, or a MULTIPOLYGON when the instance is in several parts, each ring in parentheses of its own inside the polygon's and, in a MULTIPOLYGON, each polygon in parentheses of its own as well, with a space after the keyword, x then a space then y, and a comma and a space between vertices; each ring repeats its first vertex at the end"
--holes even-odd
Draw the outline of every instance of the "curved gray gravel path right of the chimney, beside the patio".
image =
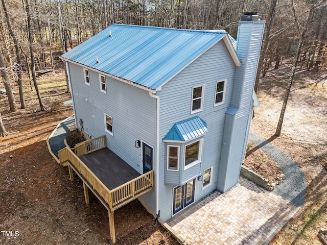
POLYGON ((273 193, 290 201, 296 206, 303 206, 306 193, 305 176, 301 168, 285 153, 268 141, 250 132, 249 141, 261 148, 275 162, 281 165, 285 175, 284 181, 273 189, 273 193))

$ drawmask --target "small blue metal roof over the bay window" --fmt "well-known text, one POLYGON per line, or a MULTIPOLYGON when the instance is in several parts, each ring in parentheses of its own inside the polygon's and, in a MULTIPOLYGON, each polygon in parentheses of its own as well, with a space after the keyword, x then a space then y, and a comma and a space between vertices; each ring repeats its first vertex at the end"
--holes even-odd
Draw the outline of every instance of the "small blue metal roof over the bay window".
POLYGON ((164 141, 188 141, 207 133, 206 123, 199 116, 176 122, 164 141))

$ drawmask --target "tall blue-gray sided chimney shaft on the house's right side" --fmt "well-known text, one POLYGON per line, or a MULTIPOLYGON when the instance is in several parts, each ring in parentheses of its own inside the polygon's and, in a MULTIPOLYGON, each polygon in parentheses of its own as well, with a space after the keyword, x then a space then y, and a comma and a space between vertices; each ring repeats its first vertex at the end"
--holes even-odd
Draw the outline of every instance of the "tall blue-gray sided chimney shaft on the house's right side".
POLYGON ((231 107, 225 118, 217 182, 217 188, 222 192, 238 183, 245 157, 253 113, 252 92, 265 22, 239 21, 236 52, 242 64, 235 70, 231 107))

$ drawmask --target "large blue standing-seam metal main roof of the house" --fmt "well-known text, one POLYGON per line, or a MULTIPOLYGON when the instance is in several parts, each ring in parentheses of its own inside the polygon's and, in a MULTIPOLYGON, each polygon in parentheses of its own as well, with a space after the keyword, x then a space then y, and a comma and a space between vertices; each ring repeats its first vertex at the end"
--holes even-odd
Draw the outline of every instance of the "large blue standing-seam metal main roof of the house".
POLYGON ((223 30, 112 24, 61 57, 157 89, 223 37, 223 30))

